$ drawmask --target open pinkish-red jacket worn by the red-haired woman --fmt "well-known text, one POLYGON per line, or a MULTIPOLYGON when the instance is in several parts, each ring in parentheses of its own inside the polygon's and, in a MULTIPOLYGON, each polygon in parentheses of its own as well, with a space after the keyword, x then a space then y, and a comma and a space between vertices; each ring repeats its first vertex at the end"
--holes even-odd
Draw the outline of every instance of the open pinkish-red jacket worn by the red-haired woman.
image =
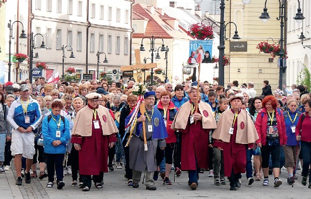
MULTIPOLYGON (((287 142, 287 135, 286 135, 286 126, 285 126, 285 120, 284 116, 279 114, 278 110, 275 110, 277 123, 278 123, 278 131, 279 131, 279 137, 280 137, 280 145, 286 144, 287 142)), ((255 128, 257 130, 259 139, 256 141, 256 143, 261 143, 263 146, 266 145, 266 136, 267 136, 267 122, 268 122, 268 113, 267 109, 263 108, 259 111, 256 122, 255 122, 255 128), (263 117, 262 112, 264 113, 263 117)))

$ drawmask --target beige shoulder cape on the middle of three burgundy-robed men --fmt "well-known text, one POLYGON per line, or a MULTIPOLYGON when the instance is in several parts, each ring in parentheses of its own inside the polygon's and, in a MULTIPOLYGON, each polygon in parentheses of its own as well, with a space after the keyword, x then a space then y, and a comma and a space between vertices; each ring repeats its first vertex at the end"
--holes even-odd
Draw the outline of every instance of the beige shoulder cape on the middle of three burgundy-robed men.
MULTIPOLYGON (((214 129, 217 127, 214 118, 214 113, 212 108, 208 103, 200 101, 198 104, 198 109, 202 115, 202 127, 203 129, 214 129)), ((191 111, 191 103, 189 101, 182 104, 178 109, 174 121, 171 125, 171 129, 185 129, 188 123, 189 114, 191 111)))

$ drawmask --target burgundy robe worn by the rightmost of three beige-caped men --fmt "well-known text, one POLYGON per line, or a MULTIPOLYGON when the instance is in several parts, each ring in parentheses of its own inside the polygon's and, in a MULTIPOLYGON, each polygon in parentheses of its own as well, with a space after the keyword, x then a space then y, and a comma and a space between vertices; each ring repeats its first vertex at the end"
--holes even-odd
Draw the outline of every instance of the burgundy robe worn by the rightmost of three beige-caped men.
MULTIPOLYGON (((239 110, 240 113, 241 110, 239 110)), ((225 176, 230 177, 232 168, 234 174, 245 173, 246 168, 246 150, 248 147, 253 147, 254 144, 239 144, 236 143, 236 135, 238 129, 238 120, 234 122, 233 135, 230 136, 229 142, 223 142, 215 139, 213 147, 220 147, 223 149, 223 158, 225 166, 225 176)), ((229 132, 227 132, 229 133, 229 132)))

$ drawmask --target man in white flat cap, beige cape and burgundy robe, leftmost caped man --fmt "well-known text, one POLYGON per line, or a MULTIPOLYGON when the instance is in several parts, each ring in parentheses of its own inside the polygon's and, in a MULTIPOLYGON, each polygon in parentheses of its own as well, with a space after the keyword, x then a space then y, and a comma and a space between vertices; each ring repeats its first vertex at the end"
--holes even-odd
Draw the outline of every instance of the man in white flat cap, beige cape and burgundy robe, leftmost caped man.
POLYGON ((79 151, 79 171, 83 190, 91 188, 91 175, 97 189, 103 188, 104 172, 108 172, 108 148, 117 141, 118 128, 109 110, 98 105, 100 94, 85 96, 88 104, 76 115, 71 142, 79 151))

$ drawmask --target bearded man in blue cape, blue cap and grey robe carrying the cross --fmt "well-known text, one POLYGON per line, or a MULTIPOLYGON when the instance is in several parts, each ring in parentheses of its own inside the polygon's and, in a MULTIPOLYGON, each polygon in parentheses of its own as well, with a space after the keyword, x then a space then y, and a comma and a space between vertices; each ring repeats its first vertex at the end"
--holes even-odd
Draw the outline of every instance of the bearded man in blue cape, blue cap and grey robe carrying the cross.
MULTIPOLYGON (((139 187, 142 172, 146 171, 146 189, 156 190, 153 180, 156 171, 155 153, 156 148, 164 150, 166 146, 165 138, 168 137, 164 120, 157 108, 154 108, 155 92, 150 91, 144 95, 145 114, 138 112, 137 121, 129 127, 133 129, 133 136, 130 138, 129 154, 130 169, 133 169, 133 188, 139 187), (143 122, 146 126, 146 139, 148 150, 144 150, 143 122)), ((125 123, 128 125, 133 112, 127 116, 125 123)))

